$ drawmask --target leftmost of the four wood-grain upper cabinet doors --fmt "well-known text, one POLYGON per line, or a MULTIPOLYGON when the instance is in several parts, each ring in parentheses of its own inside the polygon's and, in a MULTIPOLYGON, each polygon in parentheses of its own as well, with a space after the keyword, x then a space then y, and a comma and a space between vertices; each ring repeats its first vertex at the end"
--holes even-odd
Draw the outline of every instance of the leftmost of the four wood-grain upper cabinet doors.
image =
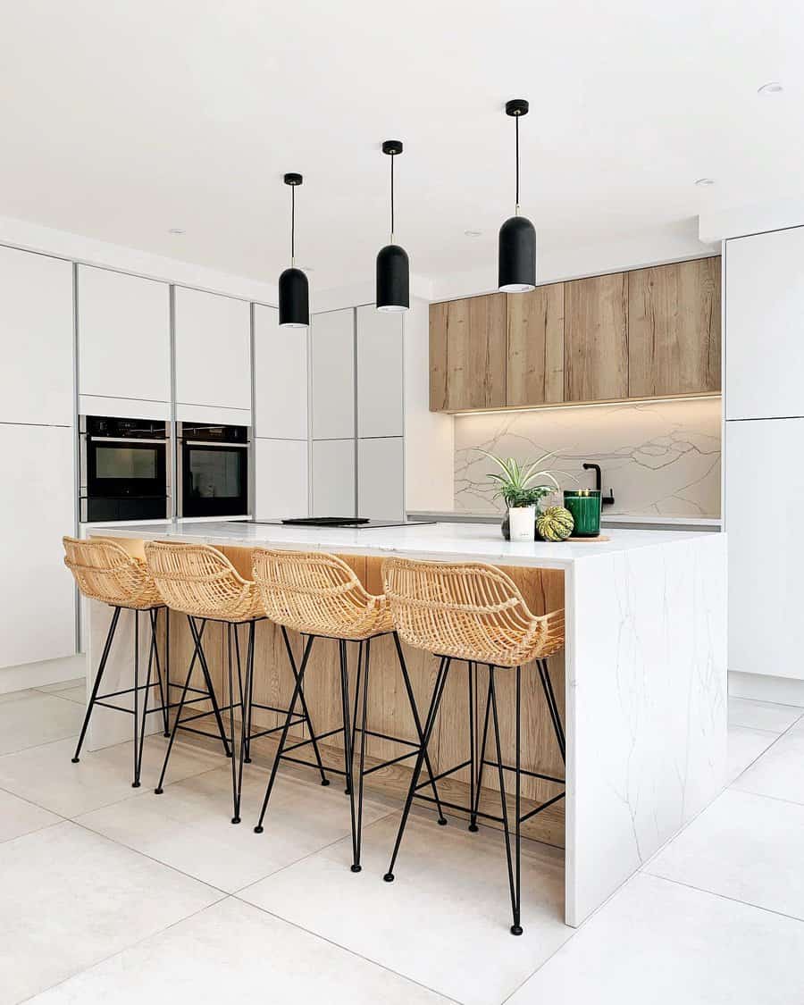
POLYGON ((430 307, 430 408, 506 405, 506 294, 430 307))

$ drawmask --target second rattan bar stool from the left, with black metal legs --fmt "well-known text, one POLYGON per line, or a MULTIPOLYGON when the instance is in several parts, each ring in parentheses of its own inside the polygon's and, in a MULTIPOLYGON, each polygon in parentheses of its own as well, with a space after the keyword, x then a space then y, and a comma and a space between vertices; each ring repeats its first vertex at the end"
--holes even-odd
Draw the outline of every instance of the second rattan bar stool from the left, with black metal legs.
MULTIPOLYGON (((210 734, 190 724, 196 723, 204 717, 214 716, 226 756, 231 758, 231 819, 232 823, 239 823, 243 764, 251 760, 251 741, 281 729, 281 727, 273 727, 253 732, 251 729, 252 711, 253 709, 263 709, 281 715, 285 713, 284 709, 277 709, 273 706, 255 705, 252 699, 255 628, 258 621, 265 619, 259 594, 254 584, 250 580, 243 579, 222 552, 209 545, 149 542, 145 546, 145 554, 154 582, 164 602, 173 610, 180 611, 187 616, 187 623, 190 626, 194 643, 193 658, 182 688, 178 713, 173 722, 168 749, 165 753, 165 762, 162 765, 162 774, 154 791, 157 795, 161 795, 163 792, 168 762, 179 730, 200 736, 210 736, 210 734), (225 625, 226 629, 228 700, 224 706, 219 706, 215 697, 212 677, 204 652, 204 629, 210 621, 221 623, 225 625), (245 670, 243 670, 241 658, 239 632, 241 625, 246 626, 247 635, 245 640, 245 670), (190 679, 196 659, 201 665, 209 689, 208 696, 212 702, 212 709, 206 712, 195 712, 191 716, 182 718, 185 706, 191 703, 187 694, 194 689, 190 686, 190 679), (239 743, 236 744, 237 756, 235 757, 235 742, 238 732, 235 722, 236 711, 239 711, 239 743), (226 712, 229 714, 228 736, 222 719, 222 713, 226 712)), ((298 723, 310 725, 304 694, 301 705, 304 712, 294 718, 298 723)), ((323 768, 322 777, 324 777, 323 768)))

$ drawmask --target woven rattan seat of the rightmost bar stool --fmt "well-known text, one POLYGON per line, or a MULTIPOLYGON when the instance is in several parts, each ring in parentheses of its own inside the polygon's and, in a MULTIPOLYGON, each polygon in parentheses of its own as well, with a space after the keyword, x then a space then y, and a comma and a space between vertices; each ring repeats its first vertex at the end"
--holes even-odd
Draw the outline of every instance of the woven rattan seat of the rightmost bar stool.
POLYGON ((496 666, 549 656, 564 644, 564 611, 532 614, 516 583, 479 562, 383 562, 394 625, 409 645, 496 666))

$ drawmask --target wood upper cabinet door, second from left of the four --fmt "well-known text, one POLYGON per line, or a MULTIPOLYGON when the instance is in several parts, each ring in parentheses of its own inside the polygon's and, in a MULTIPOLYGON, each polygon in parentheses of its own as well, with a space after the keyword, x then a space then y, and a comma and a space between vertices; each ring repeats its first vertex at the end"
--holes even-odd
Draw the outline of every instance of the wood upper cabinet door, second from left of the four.
POLYGON ((506 404, 564 401, 564 283, 506 296, 506 404))

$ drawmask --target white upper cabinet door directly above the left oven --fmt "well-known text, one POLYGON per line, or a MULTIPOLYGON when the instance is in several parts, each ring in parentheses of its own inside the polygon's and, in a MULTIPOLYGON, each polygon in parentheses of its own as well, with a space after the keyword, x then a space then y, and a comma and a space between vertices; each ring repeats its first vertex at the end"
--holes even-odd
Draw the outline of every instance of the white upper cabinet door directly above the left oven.
POLYGON ((166 282, 78 265, 78 391, 171 400, 166 282))

